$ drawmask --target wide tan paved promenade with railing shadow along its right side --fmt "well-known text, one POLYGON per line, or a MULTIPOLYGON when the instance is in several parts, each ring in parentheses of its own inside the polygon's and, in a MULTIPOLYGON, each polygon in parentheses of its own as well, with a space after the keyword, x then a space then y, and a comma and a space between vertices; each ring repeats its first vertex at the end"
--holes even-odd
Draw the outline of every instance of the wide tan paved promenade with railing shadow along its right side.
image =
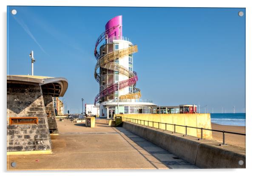
POLYGON ((68 120, 51 135, 53 154, 9 156, 9 170, 170 169, 196 168, 122 127, 97 119, 95 128, 68 120), (15 168, 10 167, 16 162, 15 168))

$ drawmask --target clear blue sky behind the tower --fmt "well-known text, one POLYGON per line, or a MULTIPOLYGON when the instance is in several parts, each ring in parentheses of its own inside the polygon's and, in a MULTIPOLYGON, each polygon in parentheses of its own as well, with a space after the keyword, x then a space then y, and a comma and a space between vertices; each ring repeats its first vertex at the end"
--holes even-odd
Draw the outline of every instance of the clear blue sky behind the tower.
POLYGON ((34 50, 34 75, 68 79, 71 113, 81 113, 81 98, 92 104, 99 93, 94 46, 117 15, 123 36, 138 45, 133 69, 142 99, 200 104, 201 112, 205 105, 214 113, 244 111, 245 8, 9 6, 7 14, 7 74, 31 74, 34 50))

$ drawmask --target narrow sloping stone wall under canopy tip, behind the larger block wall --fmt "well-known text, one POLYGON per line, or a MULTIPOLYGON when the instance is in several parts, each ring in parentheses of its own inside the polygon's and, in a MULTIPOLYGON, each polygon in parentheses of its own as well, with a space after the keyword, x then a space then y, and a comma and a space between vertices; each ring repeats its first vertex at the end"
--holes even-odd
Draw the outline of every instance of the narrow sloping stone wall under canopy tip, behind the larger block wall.
POLYGON ((44 95, 43 96, 44 105, 46 108, 46 116, 49 126, 50 133, 57 134, 58 128, 56 123, 56 116, 54 113, 54 101, 51 95, 44 95))

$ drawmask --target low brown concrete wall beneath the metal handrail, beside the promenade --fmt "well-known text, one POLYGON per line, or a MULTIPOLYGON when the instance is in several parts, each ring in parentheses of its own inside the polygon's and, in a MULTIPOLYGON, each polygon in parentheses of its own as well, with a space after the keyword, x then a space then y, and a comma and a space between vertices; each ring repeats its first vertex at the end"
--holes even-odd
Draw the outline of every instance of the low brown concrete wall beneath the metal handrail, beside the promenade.
POLYGON ((236 146, 218 146, 213 140, 198 140, 168 131, 124 121, 122 126, 152 143, 170 151, 199 168, 245 168, 245 150, 236 146), (239 165, 242 160, 243 165, 239 165))

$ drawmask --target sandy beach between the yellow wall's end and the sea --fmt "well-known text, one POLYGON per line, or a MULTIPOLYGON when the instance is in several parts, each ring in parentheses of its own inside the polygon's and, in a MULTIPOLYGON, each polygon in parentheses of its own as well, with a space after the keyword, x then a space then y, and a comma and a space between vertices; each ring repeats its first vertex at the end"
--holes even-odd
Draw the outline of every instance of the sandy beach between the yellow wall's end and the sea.
MULTIPOLYGON (((219 125, 219 124, 212 123, 212 129, 224 130, 229 132, 246 133, 245 126, 229 126, 229 125, 219 125)), ((213 139, 219 140, 220 142, 222 142, 222 133, 213 132, 213 139)), ((228 143, 233 146, 239 146, 239 147, 245 148, 245 136, 225 134, 225 143, 228 143)))

